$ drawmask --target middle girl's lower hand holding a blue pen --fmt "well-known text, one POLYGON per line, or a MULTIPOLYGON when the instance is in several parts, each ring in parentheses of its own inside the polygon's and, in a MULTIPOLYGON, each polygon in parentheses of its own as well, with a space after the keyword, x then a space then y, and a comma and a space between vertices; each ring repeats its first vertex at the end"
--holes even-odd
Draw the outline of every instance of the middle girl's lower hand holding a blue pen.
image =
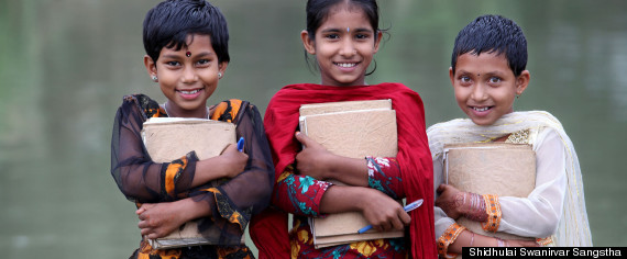
POLYGON ((366 221, 377 230, 402 230, 406 225, 409 225, 411 217, 400 203, 394 199, 385 195, 383 192, 372 190, 367 198, 364 199, 364 206, 362 213, 366 221))

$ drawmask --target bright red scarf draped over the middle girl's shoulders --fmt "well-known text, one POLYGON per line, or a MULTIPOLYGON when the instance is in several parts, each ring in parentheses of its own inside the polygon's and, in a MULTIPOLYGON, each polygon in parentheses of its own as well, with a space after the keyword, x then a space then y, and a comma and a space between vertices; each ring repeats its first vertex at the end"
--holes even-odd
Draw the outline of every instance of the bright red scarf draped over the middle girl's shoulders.
MULTIPOLYGON (((300 144, 294 138, 300 104, 381 99, 392 99, 393 109, 396 110, 396 158, 400 166, 407 201, 425 199, 422 206, 409 213, 411 255, 414 258, 436 258, 433 164, 427 140, 422 100, 411 89, 400 83, 358 87, 302 83, 284 87, 270 101, 264 117, 276 169, 275 177, 278 178, 285 168, 294 162, 297 151, 300 150, 300 144)), ((286 213, 267 209, 253 217, 250 227, 261 259, 290 257, 286 213)))

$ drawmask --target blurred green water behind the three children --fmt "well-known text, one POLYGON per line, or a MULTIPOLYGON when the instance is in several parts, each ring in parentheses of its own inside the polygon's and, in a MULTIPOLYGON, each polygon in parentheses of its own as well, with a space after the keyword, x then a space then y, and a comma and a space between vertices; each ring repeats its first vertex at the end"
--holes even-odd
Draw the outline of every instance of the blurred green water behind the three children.
MULTIPOLYGON (((143 67, 141 23, 158 1, 0 0, 0 250, 3 258, 127 258, 134 205, 109 173, 124 94, 163 101, 143 67)), ((231 59, 210 102, 261 112, 284 85, 318 82, 299 33, 305 0, 219 0, 231 59)), ((382 0, 391 37, 369 82, 418 91, 427 124, 460 117, 448 78, 461 27, 514 19, 529 42, 531 83, 516 110, 547 110, 571 136, 596 246, 627 246, 627 2, 382 0)))

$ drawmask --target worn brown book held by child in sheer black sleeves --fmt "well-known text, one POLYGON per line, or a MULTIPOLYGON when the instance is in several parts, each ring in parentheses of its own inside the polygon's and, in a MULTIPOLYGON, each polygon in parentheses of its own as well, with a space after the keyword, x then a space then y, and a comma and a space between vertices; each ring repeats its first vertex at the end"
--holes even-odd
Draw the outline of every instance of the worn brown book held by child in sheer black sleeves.
MULTIPOLYGON (((144 122, 142 140, 155 162, 170 162, 193 150, 202 160, 219 156, 229 144, 235 143, 235 125, 206 119, 151 117, 144 122)), ((211 185, 218 182, 212 181, 211 185)), ((148 239, 148 244, 155 249, 216 245, 198 233, 199 222, 188 222, 168 236, 148 239)))

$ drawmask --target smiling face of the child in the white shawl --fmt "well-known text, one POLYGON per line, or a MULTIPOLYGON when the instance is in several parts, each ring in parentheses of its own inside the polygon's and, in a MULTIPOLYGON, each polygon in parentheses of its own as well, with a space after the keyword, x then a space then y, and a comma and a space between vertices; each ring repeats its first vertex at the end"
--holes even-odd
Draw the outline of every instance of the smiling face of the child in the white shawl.
POLYGON ((491 125, 514 111, 514 99, 529 83, 529 71, 516 77, 504 54, 466 53, 449 69, 458 105, 477 125, 491 125))

